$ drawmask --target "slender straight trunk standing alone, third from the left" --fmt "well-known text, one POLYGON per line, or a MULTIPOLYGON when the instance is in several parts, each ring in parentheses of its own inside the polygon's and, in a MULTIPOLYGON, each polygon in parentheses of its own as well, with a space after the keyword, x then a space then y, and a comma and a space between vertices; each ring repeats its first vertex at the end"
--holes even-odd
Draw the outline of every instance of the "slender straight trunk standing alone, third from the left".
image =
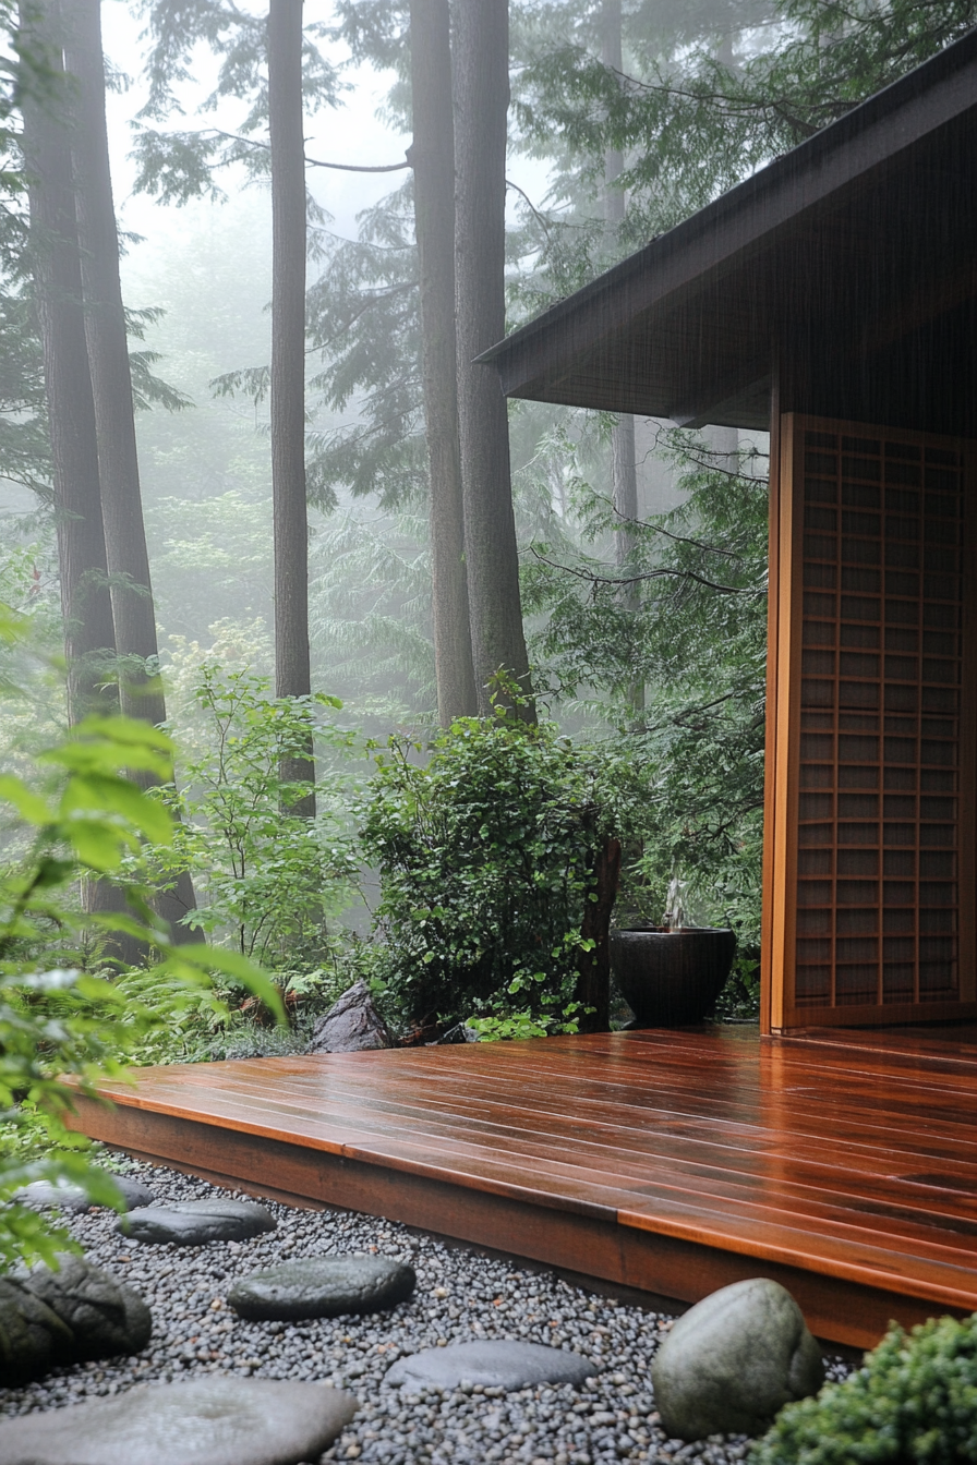
MULTIPOLYGON (((275 539, 275 690, 311 691, 309 526, 305 485, 305 136, 302 129, 302 0, 268 10, 271 133, 271 495, 275 539)), ((315 815, 312 737, 283 759, 281 776, 308 782, 291 812, 315 815)))

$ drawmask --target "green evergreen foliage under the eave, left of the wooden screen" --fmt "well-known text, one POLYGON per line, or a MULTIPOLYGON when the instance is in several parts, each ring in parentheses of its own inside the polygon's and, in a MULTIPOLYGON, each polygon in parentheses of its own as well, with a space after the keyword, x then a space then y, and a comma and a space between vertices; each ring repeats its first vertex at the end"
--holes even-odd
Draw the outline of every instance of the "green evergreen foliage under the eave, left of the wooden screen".
POLYGON ((617 722, 642 768, 643 845, 625 861, 625 898, 661 917, 678 869, 703 916, 732 924, 748 949, 760 935, 766 464, 747 450, 737 464, 721 461, 677 431, 662 434, 662 450, 684 501, 628 526, 623 565, 601 552, 618 523, 611 502, 574 481, 592 552, 567 539, 532 546, 524 601, 540 618, 532 649, 543 689, 571 715, 617 722), (631 611, 623 589, 636 582, 631 611), (636 681, 646 689, 637 722, 636 681))

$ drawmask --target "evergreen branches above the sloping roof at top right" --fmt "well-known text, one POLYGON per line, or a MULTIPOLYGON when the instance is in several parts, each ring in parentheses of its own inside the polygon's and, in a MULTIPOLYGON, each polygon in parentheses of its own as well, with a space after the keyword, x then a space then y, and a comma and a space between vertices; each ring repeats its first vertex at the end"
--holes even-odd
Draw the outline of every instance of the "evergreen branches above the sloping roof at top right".
MULTIPOLYGON (((517 75, 520 145, 555 163, 533 289, 551 297, 602 267, 605 157, 627 214, 617 258, 955 41, 974 0, 624 3, 624 69, 599 59, 598 4, 526 6, 517 75)), ((603 258, 603 264, 609 259, 603 258)))

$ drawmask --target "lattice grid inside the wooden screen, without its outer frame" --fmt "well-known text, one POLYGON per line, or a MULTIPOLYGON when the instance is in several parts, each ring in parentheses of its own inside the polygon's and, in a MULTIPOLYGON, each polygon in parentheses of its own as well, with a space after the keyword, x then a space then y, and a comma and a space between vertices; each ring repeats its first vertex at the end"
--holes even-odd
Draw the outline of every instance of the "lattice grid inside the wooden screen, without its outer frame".
POLYGON ((804 432, 797 1006, 959 989, 962 459, 804 432))

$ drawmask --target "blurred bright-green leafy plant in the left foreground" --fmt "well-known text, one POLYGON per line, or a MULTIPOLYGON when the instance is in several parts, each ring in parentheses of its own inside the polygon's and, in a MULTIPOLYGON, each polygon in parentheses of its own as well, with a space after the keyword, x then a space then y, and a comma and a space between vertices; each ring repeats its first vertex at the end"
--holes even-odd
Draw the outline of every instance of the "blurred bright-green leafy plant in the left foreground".
MULTIPOLYGON (((0 643, 28 639, 28 623, 0 605, 0 643)), ((6 690, 16 697, 16 689, 6 690)), ((108 882, 144 841, 164 847, 171 839, 166 809, 123 768, 171 778, 168 738, 145 722, 89 718, 42 752, 31 776, 0 775, 0 807, 13 812, 0 866, 0 1272, 19 1260, 51 1261, 67 1244, 12 1198, 21 1185, 66 1178, 94 1200, 120 1198, 88 1165, 88 1141, 64 1125, 73 1099, 64 1075, 85 1093, 105 1075, 122 1075, 123 1058, 154 1026, 167 1026, 187 1004, 217 1005, 214 970, 281 1014, 268 977, 239 954, 173 946, 145 891, 129 891, 127 910, 81 908, 79 879, 108 882), (160 960, 105 976, 100 941, 119 935, 154 948, 160 960), (69 965, 70 952, 88 952, 88 968, 69 965), (40 1147, 47 1153, 38 1157, 40 1147)))

